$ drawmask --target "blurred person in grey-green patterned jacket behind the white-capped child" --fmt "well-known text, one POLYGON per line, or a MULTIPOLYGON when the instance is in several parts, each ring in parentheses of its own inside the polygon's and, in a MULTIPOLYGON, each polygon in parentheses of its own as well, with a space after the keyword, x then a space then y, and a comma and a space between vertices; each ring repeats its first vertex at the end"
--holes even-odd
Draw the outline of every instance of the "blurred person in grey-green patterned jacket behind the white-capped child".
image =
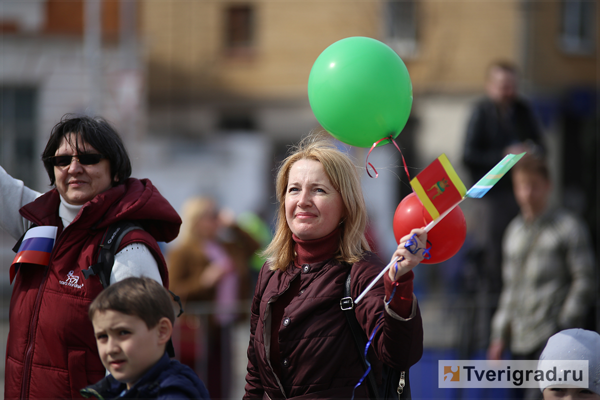
MULTIPOLYGON (((520 214, 503 240, 503 288, 491 324, 488 359, 537 360, 554 333, 581 327, 595 288, 589 232, 572 213, 550 207, 548 167, 524 156, 512 167, 520 214)), ((527 390, 523 398, 539 398, 527 390)))

